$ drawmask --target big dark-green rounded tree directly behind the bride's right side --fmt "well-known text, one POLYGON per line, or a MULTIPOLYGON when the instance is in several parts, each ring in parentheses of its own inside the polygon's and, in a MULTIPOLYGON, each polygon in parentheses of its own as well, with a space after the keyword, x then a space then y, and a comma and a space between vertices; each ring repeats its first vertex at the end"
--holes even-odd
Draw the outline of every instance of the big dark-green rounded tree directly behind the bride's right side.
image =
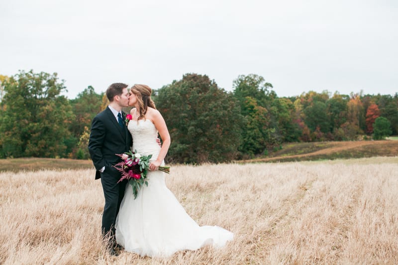
POLYGON ((218 163, 236 157, 242 127, 239 105, 207 76, 186 74, 160 88, 154 100, 170 131, 170 161, 218 163))

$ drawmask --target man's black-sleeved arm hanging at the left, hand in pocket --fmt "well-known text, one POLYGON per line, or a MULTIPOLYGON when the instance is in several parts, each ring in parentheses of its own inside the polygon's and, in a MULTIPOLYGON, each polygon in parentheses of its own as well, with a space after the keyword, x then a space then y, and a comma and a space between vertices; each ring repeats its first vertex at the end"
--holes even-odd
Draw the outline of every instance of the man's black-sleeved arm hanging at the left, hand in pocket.
POLYGON ((89 152, 90 157, 93 160, 94 167, 99 171, 105 167, 105 161, 102 155, 102 147, 105 135, 105 126, 100 118, 96 116, 91 124, 89 152))

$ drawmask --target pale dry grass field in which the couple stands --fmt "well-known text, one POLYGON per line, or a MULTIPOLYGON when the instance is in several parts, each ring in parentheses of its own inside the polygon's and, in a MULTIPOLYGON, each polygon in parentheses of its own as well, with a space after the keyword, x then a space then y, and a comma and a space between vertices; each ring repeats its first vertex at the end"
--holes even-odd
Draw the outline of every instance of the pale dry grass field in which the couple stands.
POLYGON ((94 170, 0 173, 0 264, 398 264, 398 157, 173 166, 168 187, 225 248, 168 259, 100 242, 94 170))

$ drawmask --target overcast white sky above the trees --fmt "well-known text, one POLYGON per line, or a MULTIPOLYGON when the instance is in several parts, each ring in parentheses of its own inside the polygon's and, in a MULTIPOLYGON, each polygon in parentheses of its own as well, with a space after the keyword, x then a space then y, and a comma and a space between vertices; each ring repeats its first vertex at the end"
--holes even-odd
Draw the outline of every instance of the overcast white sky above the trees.
POLYGON ((397 0, 1 0, 0 74, 57 72, 69 98, 186 73, 279 96, 398 92, 397 0))

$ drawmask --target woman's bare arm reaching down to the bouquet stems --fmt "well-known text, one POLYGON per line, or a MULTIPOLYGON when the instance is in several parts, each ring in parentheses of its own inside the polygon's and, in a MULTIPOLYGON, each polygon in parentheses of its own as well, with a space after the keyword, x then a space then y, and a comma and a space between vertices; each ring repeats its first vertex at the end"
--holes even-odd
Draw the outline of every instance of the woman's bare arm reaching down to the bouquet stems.
POLYGON ((158 158, 149 165, 150 170, 157 170, 157 168, 162 164, 162 161, 165 159, 167 151, 169 151, 171 140, 169 130, 167 130, 166 122, 162 117, 162 114, 160 114, 158 110, 154 110, 152 114, 152 122, 155 124, 155 127, 163 140, 158 158))

